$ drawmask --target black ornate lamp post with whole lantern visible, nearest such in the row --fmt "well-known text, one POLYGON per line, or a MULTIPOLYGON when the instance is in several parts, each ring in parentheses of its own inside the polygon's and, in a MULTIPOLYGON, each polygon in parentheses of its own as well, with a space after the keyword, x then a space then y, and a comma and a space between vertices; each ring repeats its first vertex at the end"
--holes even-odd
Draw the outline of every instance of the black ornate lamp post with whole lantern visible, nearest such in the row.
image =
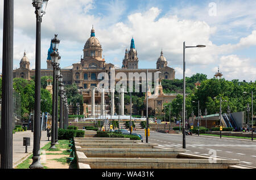
POLYGON ((57 39, 57 35, 55 35, 55 38, 52 39, 52 49, 53 52, 51 53, 52 58, 52 66, 53 66, 53 88, 52 88, 52 130, 51 130, 51 147, 50 149, 56 149, 55 147, 55 130, 56 130, 56 123, 55 123, 55 104, 56 104, 56 67, 59 62, 59 53, 57 52, 57 48, 59 48, 60 40, 57 39))

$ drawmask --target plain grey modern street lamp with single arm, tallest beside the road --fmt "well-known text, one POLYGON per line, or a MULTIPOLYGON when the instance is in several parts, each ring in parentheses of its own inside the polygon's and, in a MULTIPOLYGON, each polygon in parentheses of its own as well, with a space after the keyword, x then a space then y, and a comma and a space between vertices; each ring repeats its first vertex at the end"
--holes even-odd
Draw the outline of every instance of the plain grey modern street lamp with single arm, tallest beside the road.
POLYGON ((205 45, 197 45, 197 46, 186 46, 185 42, 183 42, 183 127, 182 127, 182 133, 183 133, 183 149, 186 148, 185 143, 185 107, 186 107, 186 101, 185 101, 185 93, 186 93, 186 82, 185 82, 185 49, 186 48, 204 48, 205 45))

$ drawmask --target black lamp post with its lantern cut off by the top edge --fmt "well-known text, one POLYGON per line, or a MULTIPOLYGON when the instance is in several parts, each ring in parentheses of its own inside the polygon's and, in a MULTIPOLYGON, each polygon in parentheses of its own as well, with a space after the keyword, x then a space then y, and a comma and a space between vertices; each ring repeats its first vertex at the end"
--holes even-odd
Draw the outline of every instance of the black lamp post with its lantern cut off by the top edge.
POLYGON ((48 0, 32 0, 36 14, 36 58, 35 58, 35 114, 34 114, 34 144, 31 169, 42 169, 40 162, 40 116, 41 116, 41 23, 42 16, 46 14, 48 0))

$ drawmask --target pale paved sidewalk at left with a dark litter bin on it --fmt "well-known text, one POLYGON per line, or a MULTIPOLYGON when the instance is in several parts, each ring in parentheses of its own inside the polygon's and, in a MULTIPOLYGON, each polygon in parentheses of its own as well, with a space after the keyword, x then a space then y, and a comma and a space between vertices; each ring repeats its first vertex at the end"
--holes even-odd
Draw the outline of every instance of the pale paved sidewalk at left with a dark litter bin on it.
MULTIPOLYGON (((51 138, 50 138, 51 139, 51 138)), ((40 148, 48 143, 47 131, 42 131, 40 148)), ((33 151, 34 134, 29 131, 16 132, 13 134, 13 168, 31 155, 33 151), (30 138, 30 146, 27 147, 25 153, 25 147, 23 146, 23 138, 30 138)))

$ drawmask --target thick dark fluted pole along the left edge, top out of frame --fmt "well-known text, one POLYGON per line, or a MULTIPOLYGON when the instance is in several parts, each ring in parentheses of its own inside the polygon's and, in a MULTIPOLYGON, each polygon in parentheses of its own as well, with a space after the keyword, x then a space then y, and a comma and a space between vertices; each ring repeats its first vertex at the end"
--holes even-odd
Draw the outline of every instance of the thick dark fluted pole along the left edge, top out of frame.
POLYGON ((13 30, 14 1, 3 4, 1 169, 13 168, 13 30))

